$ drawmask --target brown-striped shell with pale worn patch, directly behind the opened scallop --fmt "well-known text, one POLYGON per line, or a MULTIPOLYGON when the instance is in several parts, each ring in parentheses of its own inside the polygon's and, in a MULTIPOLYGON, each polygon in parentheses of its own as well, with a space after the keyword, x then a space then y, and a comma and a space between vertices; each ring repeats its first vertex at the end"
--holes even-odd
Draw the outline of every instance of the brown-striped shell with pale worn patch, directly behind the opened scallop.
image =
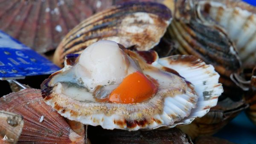
POLYGON ((63 66, 65 55, 81 53, 98 40, 113 40, 126 48, 151 49, 159 43, 171 19, 171 11, 160 3, 129 2, 112 6, 72 29, 56 49, 54 63, 63 66))

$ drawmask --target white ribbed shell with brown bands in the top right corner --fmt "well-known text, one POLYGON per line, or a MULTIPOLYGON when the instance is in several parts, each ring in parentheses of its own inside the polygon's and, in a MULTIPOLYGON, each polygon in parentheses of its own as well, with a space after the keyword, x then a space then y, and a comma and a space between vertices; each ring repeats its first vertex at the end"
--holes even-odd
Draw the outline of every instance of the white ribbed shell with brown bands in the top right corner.
POLYGON ((256 64, 256 7, 242 0, 201 0, 196 9, 201 19, 226 30, 243 63, 256 64))

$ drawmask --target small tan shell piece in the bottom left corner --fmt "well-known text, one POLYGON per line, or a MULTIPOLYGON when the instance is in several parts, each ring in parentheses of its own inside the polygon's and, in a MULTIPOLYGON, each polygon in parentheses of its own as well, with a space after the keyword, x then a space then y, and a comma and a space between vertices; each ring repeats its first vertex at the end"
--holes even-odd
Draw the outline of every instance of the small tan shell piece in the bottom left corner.
POLYGON ((0 143, 6 144, 7 141, 3 141, 3 138, 7 136, 9 140, 11 138, 14 144, 17 143, 22 128, 24 125, 23 117, 12 112, 0 110, 0 143))

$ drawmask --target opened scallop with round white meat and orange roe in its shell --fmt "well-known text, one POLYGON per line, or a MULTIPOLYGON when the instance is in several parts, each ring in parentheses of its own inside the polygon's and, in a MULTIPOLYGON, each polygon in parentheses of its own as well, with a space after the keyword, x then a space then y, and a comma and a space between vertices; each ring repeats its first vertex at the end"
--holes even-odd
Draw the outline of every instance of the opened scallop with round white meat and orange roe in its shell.
POLYGON ((223 92, 213 66, 194 56, 158 58, 101 40, 66 58, 65 67, 41 84, 44 101, 70 120, 104 129, 189 124, 223 92))

